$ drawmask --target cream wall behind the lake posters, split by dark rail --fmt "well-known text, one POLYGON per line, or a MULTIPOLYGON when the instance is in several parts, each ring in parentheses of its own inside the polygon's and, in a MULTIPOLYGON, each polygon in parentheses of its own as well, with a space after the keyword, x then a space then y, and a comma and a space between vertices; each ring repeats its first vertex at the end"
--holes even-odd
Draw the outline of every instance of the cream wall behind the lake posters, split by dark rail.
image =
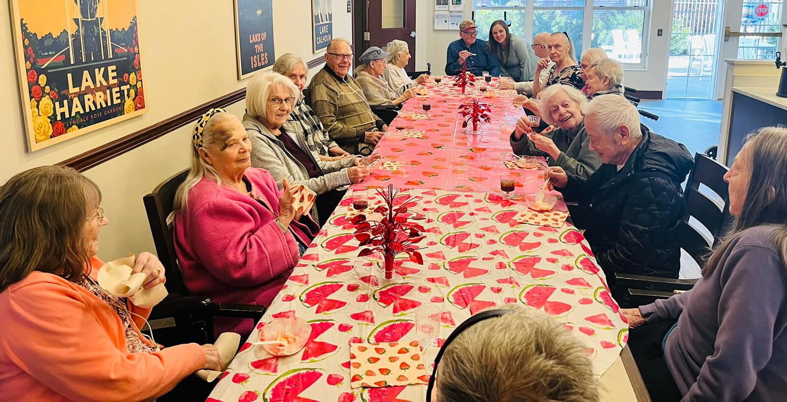
MULTIPOLYGON (((183 2, 139 0, 139 41, 145 68, 146 104, 143 115, 35 153, 27 152, 22 121, 9 2, 0 2, 0 183, 28 168, 54 164, 169 116, 218 98, 245 85, 238 82, 235 64, 235 18, 230 0, 183 2)), ((275 51, 298 53, 307 61, 312 53, 311 2, 275 1, 275 51), (295 12, 294 10, 298 10, 295 12)), ((351 37, 346 3, 334 2, 334 35, 351 37)), ((315 71, 312 71, 312 74, 315 71)), ((242 116, 241 103, 230 108, 242 116)), ((154 252, 153 239, 142 206, 142 195, 189 164, 191 127, 153 142, 85 172, 103 192, 102 207, 109 226, 101 233, 104 260, 125 253, 154 252)))

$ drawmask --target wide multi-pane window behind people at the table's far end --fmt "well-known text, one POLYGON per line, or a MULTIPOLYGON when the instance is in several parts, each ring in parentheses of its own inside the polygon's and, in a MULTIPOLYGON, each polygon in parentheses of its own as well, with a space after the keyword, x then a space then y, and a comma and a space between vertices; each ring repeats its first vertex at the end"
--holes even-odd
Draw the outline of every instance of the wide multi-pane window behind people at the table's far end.
MULTIPOLYGON (((776 0, 770 0, 776 1, 776 0)), ((650 20, 648 0, 475 0, 478 38, 488 40, 494 20, 511 22, 511 31, 532 39, 539 32, 565 31, 576 57, 600 47, 625 68, 645 68, 650 20)))

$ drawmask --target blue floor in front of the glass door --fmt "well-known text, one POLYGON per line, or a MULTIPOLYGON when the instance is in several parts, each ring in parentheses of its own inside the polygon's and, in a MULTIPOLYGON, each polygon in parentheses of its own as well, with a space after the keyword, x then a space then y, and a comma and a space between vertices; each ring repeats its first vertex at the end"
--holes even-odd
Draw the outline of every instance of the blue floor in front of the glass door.
POLYGON ((642 124, 682 143, 691 153, 703 153, 719 144, 722 101, 643 99, 639 109, 659 116, 657 121, 642 117, 642 124))

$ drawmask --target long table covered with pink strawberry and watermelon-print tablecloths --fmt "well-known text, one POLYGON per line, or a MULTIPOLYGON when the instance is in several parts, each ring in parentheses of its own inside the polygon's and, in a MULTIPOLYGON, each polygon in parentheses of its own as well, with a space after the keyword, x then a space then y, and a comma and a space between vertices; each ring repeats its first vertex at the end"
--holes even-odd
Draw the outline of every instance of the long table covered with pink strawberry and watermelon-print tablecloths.
MULTIPOLYGON (((425 385, 351 388, 349 344, 417 339, 415 312, 424 304, 441 311, 437 339, 422 352, 427 374, 458 324, 484 308, 521 304, 554 315, 583 342, 604 400, 649 400, 626 349, 626 321, 582 233, 570 221, 555 227, 517 219, 527 209, 524 195, 543 185, 544 169, 506 166, 514 158, 508 138, 523 110, 512 106, 512 91, 482 93, 477 85, 462 94, 445 77, 405 103, 375 148, 383 163, 349 188, 209 401, 423 401, 425 385), (471 98, 492 110, 475 133, 462 127, 460 114, 471 98), (519 179, 506 197, 500 178, 509 174, 519 179), (353 192, 367 190, 374 205, 375 189, 389 184, 401 189, 396 202, 412 197, 426 217, 423 264, 397 257, 393 281, 380 277, 379 260, 358 256, 352 222, 353 192), (276 357, 250 345, 266 323, 291 316, 312 329, 302 351, 276 357)), ((562 199, 556 210, 567 210, 562 199)))

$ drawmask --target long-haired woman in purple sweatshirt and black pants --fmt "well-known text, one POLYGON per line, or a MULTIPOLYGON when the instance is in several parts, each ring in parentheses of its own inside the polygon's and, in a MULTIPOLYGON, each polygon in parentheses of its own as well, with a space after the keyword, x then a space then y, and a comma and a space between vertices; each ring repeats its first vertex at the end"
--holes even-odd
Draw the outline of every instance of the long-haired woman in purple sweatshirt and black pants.
POLYGON ((630 345, 657 400, 787 400, 785 171, 787 128, 752 134, 724 175, 734 227, 702 278, 688 292, 622 310, 631 328, 646 324, 631 331, 630 345))

